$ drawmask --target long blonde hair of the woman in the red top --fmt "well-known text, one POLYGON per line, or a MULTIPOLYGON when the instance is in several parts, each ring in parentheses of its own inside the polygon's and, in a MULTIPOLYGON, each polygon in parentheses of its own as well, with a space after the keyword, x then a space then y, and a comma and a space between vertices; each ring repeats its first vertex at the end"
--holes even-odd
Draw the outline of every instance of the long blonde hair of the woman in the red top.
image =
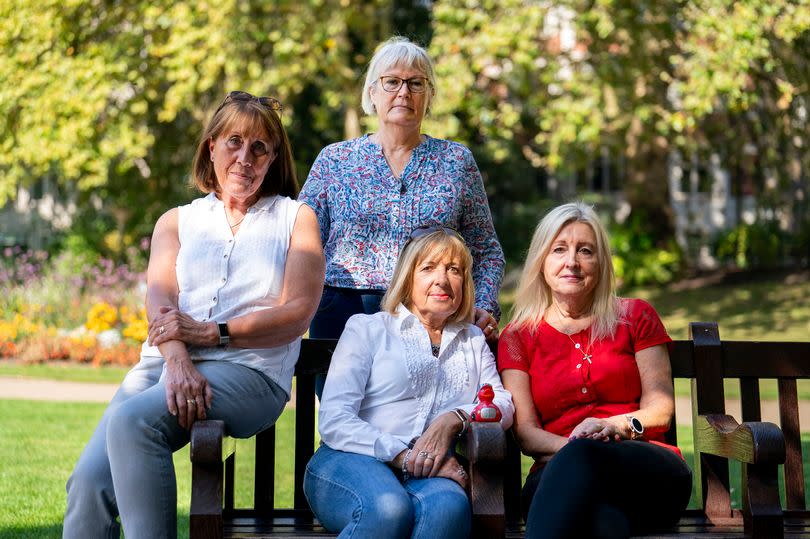
POLYGON ((607 231, 593 208, 583 202, 557 206, 537 225, 512 307, 512 324, 517 328, 535 329, 543 320, 543 314, 551 306, 552 300, 551 288, 543 276, 543 265, 554 238, 563 227, 574 222, 590 226, 596 237, 599 279, 593 292, 590 314, 593 317, 591 340, 597 341, 615 334, 622 313, 616 297, 616 279, 607 231))

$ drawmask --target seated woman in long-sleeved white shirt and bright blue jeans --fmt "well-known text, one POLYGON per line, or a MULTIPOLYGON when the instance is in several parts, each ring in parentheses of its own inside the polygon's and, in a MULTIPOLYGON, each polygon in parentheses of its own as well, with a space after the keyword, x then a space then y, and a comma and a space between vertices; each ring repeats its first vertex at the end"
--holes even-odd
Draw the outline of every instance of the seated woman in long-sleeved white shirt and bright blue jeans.
POLYGON ((382 311, 351 317, 332 356, 318 418, 322 445, 304 492, 340 537, 467 537, 467 476, 452 454, 478 389, 512 400, 471 324, 472 258, 452 229, 414 230, 382 311))

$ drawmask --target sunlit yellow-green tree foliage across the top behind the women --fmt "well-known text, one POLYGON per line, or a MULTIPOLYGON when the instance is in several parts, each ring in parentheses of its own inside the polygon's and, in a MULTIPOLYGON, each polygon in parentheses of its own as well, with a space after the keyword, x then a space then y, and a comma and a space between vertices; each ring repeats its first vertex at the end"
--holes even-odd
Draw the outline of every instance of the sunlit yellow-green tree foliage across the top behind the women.
POLYGON ((0 204, 53 180, 74 197, 74 232, 121 261, 194 195, 196 137, 228 90, 281 99, 303 179, 324 145, 374 129, 359 111, 362 73, 376 44, 400 32, 436 60, 424 130, 473 149, 503 238, 522 236, 516 216, 545 205, 552 180, 603 152, 621 161, 617 180, 656 241, 672 235, 672 150, 717 151, 734 194, 798 221, 799 195, 810 194, 809 7, 2 0, 0 204))

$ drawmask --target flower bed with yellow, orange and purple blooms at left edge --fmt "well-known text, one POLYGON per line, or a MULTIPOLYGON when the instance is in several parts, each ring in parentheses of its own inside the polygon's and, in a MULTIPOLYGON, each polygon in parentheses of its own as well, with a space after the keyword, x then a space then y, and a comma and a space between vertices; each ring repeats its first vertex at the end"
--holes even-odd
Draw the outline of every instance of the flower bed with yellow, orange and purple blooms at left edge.
MULTIPOLYGON (((144 247, 147 247, 144 245, 144 247)), ((146 339, 145 272, 92 256, 6 248, 0 357, 132 365, 146 339)))

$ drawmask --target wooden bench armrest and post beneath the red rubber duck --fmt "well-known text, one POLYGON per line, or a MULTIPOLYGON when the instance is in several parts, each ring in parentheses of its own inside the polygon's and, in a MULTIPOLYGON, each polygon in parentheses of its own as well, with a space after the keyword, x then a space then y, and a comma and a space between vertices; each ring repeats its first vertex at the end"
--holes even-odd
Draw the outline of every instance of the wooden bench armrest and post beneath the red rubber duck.
POLYGON ((470 423, 457 449, 469 462, 472 537, 503 537, 506 531, 503 503, 506 434, 501 424, 470 423))

